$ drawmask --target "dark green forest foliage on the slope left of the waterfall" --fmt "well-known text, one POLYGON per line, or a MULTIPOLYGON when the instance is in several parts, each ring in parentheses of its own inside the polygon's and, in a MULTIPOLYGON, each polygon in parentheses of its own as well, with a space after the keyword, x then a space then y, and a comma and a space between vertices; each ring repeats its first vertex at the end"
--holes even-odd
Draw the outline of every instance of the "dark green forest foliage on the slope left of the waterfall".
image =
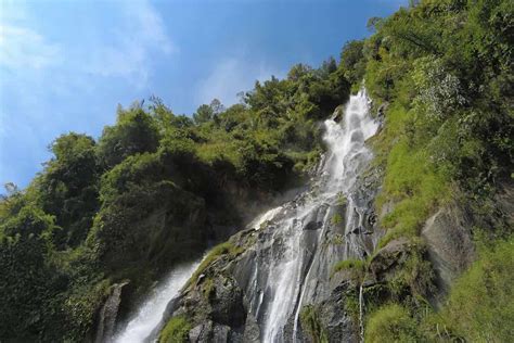
MULTIPOLYGON (((215 99, 190 118, 152 97, 119 106, 98 141, 59 137, 44 170, 0 202, 0 341, 83 339, 111 284, 130 280, 137 301, 233 232, 253 194, 301 180, 323 149, 319 120, 349 96, 344 74, 334 59, 298 64, 228 109, 215 99)), ((224 244, 209 258, 235 253, 224 244)))

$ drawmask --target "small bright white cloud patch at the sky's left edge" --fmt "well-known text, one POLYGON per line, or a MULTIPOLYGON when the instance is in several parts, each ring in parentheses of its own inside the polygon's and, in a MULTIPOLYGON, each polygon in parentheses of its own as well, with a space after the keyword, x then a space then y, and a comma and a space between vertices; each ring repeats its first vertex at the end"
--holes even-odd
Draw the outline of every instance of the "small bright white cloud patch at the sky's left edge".
POLYGON ((0 24, 0 65, 40 69, 60 61, 59 45, 48 42, 29 28, 0 24))

